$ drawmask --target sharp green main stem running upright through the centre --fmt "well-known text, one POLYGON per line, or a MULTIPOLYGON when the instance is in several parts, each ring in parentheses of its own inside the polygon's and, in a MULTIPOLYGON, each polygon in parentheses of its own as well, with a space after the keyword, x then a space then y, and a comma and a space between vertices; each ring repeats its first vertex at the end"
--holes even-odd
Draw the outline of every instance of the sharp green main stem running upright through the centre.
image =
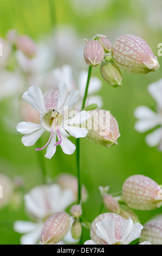
MULTIPOLYGON (((83 98, 83 103, 82 103, 82 109, 85 108, 91 72, 92 72, 92 66, 89 66, 85 96, 83 98)), ((79 138, 76 139, 76 170, 77 170, 77 184, 78 184, 78 188, 77 188, 78 189, 78 192, 77 192, 78 200, 77 200, 77 202, 78 202, 78 204, 80 204, 82 183, 81 183, 81 161, 80 161, 80 139, 79 138)))

